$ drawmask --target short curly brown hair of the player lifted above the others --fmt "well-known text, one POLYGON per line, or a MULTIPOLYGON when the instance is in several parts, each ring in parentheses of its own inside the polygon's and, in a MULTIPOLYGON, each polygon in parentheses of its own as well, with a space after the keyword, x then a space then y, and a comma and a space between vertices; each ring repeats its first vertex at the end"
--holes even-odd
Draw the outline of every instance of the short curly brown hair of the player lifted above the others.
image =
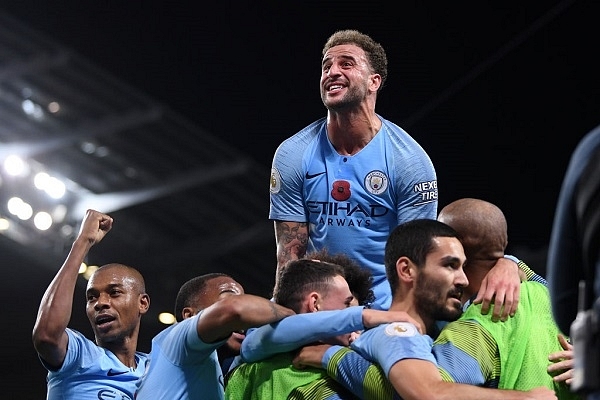
POLYGON ((353 44, 363 49, 371 68, 376 74, 381 76, 381 85, 378 91, 383 89, 387 80, 387 56, 383 46, 374 41, 369 35, 354 29, 346 29, 337 31, 329 36, 327 42, 325 42, 325 46, 323 46, 322 56, 325 57, 325 53, 330 48, 342 44, 353 44))

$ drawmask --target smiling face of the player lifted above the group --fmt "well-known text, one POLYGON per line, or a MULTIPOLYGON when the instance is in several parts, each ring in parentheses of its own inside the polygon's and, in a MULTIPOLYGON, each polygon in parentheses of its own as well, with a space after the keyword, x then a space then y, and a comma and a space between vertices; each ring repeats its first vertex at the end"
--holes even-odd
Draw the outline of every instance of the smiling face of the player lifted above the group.
POLYGON ((375 95, 381 77, 375 74, 363 49, 353 44, 331 47, 322 61, 321 100, 331 111, 356 108, 375 95))

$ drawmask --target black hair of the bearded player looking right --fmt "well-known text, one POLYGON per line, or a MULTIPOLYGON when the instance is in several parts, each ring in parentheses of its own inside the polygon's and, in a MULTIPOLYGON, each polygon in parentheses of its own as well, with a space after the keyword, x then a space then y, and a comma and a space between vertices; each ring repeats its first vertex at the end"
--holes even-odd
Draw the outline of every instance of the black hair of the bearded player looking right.
POLYGON ((396 226, 385 244, 385 273, 392 289, 392 296, 399 285, 396 261, 408 257, 418 268, 425 266, 427 255, 433 250, 436 237, 455 237, 458 233, 450 226, 435 219, 415 219, 396 226))

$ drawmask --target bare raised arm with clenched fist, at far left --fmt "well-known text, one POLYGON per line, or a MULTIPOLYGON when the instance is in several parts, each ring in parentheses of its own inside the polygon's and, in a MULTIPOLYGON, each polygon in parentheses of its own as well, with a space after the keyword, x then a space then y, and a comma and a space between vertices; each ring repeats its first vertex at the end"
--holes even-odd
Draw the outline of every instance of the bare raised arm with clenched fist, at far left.
POLYGON ((112 223, 110 216, 87 210, 65 262, 42 297, 33 328, 33 345, 40 357, 52 367, 60 367, 67 352, 68 336, 65 331, 71 319, 79 267, 91 247, 110 231, 112 223))

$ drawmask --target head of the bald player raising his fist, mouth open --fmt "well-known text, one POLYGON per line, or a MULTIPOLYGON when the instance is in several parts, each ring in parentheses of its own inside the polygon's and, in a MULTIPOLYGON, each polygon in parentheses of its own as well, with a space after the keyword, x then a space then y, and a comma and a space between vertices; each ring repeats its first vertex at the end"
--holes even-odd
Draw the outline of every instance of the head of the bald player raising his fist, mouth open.
POLYGON ((138 271, 120 264, 99 268, 88 281, 86 298, 86 313, 99 346, 110 347, 127 338, 137 341, 140 318, 150 305, 138 271))

